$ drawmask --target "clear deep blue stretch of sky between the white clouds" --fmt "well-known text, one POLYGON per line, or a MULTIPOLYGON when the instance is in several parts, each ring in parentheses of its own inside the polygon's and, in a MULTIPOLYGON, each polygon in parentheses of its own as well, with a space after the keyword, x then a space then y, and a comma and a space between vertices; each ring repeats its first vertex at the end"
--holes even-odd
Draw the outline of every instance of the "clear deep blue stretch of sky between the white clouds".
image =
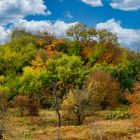
POLYGON ((100 22, 114 18, 121 21, 123 27, 139 29, 140 10, 123 11, 113 9, 109 4, 109 0, 103 0, 102 2, 104 6, 92 7, 80 0, 63 0, 63 2, 61 0, 45 0, 48 9, 52 12, 52 15, 48 16, 47 19, 60 19, 65 22, 80 21, 89 26, 96 26, 100 22), (71 18, 66 16, 68 11, 72 15, 71 18))

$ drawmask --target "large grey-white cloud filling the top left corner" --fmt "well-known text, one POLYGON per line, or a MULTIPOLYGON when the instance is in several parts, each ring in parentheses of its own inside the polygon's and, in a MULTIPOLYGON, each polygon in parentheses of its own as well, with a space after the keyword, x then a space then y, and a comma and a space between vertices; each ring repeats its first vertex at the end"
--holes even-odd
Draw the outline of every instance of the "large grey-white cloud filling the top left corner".
POLYGON ((50 15, 43 0, 0 0, 0 24, 13 23, 28 15, 50 15))

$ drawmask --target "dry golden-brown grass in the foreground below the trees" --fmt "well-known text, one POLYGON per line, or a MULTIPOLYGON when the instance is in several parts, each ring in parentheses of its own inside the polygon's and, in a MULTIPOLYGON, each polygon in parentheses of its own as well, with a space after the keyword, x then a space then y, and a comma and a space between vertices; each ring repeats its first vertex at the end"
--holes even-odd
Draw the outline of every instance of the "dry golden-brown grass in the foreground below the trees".
POLYGON ((88 117, 81 126, 65 125, 58 129, 55 112, 41 110, 39 117, 20 117, 10 109, 5 140, 139 140, 130 119, 104 120, 88 117), (96 121, 95 121, 96 120, 96 121))

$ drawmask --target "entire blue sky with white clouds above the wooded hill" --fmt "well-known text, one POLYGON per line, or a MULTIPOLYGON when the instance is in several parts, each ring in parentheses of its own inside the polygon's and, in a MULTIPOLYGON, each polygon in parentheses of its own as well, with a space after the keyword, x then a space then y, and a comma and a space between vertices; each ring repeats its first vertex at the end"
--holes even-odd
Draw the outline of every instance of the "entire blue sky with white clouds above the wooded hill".
POLYGON ((140 0, 0 0, 0 43, 14 28, 65 36, 76 23, 115 33, 124 47, 140 42, 140 0))

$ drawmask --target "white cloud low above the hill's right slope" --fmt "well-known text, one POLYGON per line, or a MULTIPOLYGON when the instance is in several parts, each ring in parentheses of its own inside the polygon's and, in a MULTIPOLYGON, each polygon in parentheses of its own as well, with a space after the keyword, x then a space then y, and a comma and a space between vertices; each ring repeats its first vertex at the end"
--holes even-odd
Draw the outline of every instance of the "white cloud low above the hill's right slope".
POLYGON ((97 24, 98 30, 106 29, 115 33, 119 38, 119 43, 125 47, 135 49, 135 45, 140 42, 140 29, 127 29, 121 26, 119 21, 110 19, 107 22, 97 24))

